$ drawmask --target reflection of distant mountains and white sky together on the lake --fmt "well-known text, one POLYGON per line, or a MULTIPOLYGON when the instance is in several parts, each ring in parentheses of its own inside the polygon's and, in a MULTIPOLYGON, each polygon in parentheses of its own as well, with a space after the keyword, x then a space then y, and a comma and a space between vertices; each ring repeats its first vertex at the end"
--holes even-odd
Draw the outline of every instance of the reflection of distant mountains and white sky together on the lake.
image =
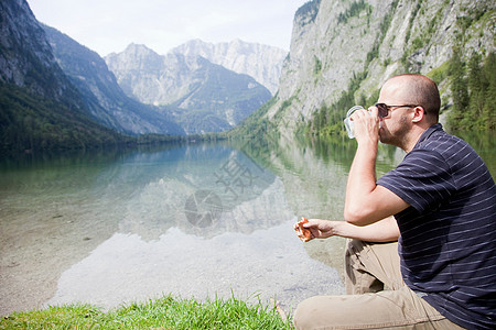
MULTIPOLYGON (((137 154, 96 182, 101 199, 125 198, 118 231, 62 273, 47 304, 110 307, 170 292, 260 293, 290 304, 342 292, 337 271, 309 258, 295 238, 281 179, 236 150, 203 144, 137 154), (187 218, 198 191, 218 197, 220 212, 207 226, 187 218)), ((198 216, 212 211, 196 206, 198 216)))

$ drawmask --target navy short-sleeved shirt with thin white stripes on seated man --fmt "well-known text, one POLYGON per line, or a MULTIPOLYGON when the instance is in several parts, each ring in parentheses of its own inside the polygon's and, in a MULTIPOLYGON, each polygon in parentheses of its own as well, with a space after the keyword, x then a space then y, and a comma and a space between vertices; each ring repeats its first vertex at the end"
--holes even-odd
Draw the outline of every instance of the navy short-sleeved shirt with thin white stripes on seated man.
POLYGON ((435 124, 377 184, 411 206, 395 215, 405 283, 461 327, 496 329, 496 186, 483 160, 435 124))

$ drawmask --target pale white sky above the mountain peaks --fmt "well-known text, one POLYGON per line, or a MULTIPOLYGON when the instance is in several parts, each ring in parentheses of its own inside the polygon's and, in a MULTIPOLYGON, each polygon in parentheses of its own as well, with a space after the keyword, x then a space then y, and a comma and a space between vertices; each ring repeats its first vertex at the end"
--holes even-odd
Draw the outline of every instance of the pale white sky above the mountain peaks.
POLYGON ((28 0, 36 19, 100 56, 144 44, 166 54, 190 40, 240 38, 289 51, 308 0, 28 0))

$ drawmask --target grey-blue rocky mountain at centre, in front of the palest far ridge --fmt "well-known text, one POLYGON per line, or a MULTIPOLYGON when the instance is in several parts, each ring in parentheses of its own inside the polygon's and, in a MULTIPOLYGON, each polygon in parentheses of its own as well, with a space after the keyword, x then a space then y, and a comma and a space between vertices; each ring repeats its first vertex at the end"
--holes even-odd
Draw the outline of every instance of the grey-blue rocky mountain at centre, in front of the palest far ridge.
POLYGON ((157 54, 129 45, 106 57, 122 90, 140 102, 169 106, 186 133, 219 132, 238 124, 270 99, 254 78, 236 74, 202 56, 157 54))

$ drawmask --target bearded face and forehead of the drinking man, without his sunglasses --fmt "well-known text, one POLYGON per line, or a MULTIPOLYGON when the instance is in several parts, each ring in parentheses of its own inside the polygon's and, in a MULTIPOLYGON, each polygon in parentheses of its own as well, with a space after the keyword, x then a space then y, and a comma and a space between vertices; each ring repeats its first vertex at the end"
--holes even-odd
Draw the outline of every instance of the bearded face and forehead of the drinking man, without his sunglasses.
MULTIPOLYGON (((407 105, 405 96, 405 82, 402 79, 388 80, 380 90, 378 103, 407 105)), ((379 140, 382 143, 401 146, 406 134, 410 131, 412 123, 409 117, 411 108, 398 108, 389 110, 388 117, 380 119, 379 140), (391 111, 392 110, 392 111, 391 111)))

